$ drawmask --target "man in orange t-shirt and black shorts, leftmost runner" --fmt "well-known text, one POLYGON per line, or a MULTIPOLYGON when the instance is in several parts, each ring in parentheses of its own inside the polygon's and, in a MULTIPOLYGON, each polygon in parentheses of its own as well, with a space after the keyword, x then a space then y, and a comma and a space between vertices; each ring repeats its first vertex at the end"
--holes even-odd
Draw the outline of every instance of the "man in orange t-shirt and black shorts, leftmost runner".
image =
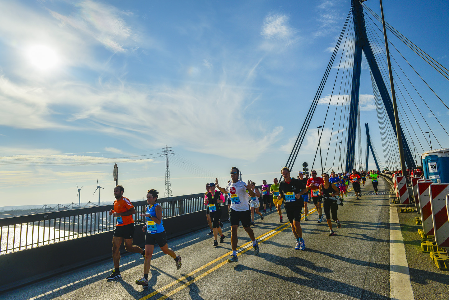
POLYGON ((125 242, 125 250, 128 252, 141 253, 145 256, 145 251, 139 246, 132 245, 134 237, 134 220, 132 215, 136 213, 136 209, 128 198, 123 197, 123 186, 117 185, 114 188, 114 209, 109 211, 109 215, 114 215, 117 220, 114 236, 112 238, 112 260, 114 261, 114 271, 106 279, 114 279, 121 277, 119 271, 120 265, 120 245, 123 240, 125 242))

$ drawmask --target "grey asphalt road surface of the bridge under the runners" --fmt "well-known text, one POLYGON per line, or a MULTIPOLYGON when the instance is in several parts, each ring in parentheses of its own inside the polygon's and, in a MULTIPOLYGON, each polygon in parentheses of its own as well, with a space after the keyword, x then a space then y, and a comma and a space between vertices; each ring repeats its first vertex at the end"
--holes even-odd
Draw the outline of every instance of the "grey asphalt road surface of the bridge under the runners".
MULTIPOLYGON (((254 255, 247 234, 239 228, 238 245, 248 244, 249 248, 241 249, 237 263, 226 262, 230 239, 214 248, 205 229, 169 240, 169 247, 182 257, 180 270, 176 270, 171 257, 155 248, 149 287, 135 284, 143 276, 143 259, 138 254, 129 254, 121 259, 122 278, 106 281, 112 268, 112 260, 108 260, 9 291, 0 298, 389 299, 389 190, 390 185, 381 179, 379 195, 371 193, 371 185, 367 183, 362 187, 365 193, 360 200, 348 197, 344 206, 339 207, 342 227, 335 226, 333 237, 328 236, 325 222, 317 224, 317 212, 313 212, 309 221, 301 222, 305 251, 293 248, 295 239, 289 224, 280 224, 273 211, 264 221, 259 217, 255 220, 255 235, 263 238, 258 256, 254 255)), ((309 209, 312 208, 309 203, 309 209)), ((401 222, 410 222, 411 214, 402 215, 407 214, 401 214, 401 222)), ((449 276, 418 252, 414 227, 405 228, 403 236, 415 299, 448 299, 449 276)), ((225 223, 223 231, 228 237, 229 229, 229 223, 225 223)))

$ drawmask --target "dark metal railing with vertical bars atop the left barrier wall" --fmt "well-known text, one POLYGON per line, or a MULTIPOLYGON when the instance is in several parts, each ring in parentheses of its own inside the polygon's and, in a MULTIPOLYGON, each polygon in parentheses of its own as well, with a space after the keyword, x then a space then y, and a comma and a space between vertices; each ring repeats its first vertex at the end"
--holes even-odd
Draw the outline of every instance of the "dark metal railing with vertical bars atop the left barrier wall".
MULTIPOLYGON (((203 210, 203 201, 204 193, 158 199, 164 218, 203 210)), ((139 215, 145 212, 146 200, 132 204, 134 223, 144 223, 139 215)), ((113 208, 110 204, 0 219, 0 255, 114 230, 116 219, 109 215, 113 208)))

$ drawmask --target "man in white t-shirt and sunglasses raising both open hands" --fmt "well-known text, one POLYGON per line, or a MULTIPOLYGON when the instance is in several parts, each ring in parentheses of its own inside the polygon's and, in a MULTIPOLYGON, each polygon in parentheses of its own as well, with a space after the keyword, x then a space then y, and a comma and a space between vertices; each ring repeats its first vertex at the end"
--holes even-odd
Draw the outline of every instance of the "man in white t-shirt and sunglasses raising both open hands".
POLYGON ((231 194, 231 207, 229 208, 229 221, 231 223, 231 247, 232 254, 228 259, 228 262, 236 262, 237 258, 237 229, 240 222, 242 222, 243 229, 247 232, 248 236, 253 242, 254 254, 259 254, 259 245, 254 237, 254 231, 251 226, 251 211, 249 210, 249 198, 255 197, 255 193, 251 190, 252 182, 248 181, 248 184, 238 179, 240 171, 236 167, 231 168, 231 182, 226 185, 225 188, 220 187, 218 184, 218 178, 215 179, 215 186, 220 192, 231 194))

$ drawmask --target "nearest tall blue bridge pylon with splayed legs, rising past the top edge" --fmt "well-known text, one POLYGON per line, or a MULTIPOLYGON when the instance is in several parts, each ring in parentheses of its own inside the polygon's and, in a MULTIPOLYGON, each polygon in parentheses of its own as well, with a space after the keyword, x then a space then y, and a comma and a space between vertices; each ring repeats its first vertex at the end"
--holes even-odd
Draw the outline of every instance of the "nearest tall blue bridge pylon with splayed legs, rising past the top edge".
MULTIPOLYGON (((352 66, 352 90, 351 90, 351 103, 349 106, 349 124, 348 124, 348 147, 346 150, 346 169, 350 171, 354 168, 354 150, 356 146, 356 136, 357 136, 357 119, 359 113, 359 90, 360 90, 360 71, 361 71, 361 59, 362 51, 365 53, 366 60, 370 66, 371 73, 373 74, 374 81, 379 90, 380 97, 382 98, 383 105, 387 111, 388 119, 392 124, 392 128, 396 134, 396 123, 393 113, 393 104, 388 93, 387 86, 383 81, 382 75, 377 65, 376 59, 371 49, 370 41, 366 35, 365 28, 365 17, 363 14, 363 7, 361 0, 351 0, 352 4, 352 20, 354 22, 354 31, 356 35, 356 42, 354 47, 354 62, 352 66)), ((399 126, 402 138, 402 145, 404 148, 405 163, 408 168, 416 168, 413 160, 412 153, 409 148, 409 143, 405 137, 402 127, 399 126)), ((374 155, 373 155, 374 156, 374 155)), ((379 168, 379 166, 378 166, 379 168)))

